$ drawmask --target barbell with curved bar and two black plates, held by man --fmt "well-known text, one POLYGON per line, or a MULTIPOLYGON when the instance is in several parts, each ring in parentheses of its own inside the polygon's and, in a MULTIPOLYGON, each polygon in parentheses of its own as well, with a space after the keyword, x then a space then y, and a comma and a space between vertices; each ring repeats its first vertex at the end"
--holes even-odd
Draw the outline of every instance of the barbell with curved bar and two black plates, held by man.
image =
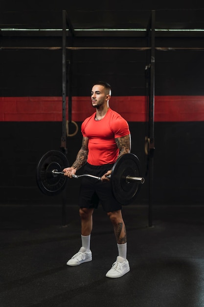
MULTIPOLYGON (((63 169, 69 167, 66 155, 60 151, 49 151, 39 160, 36 171, 37 184, 46 195, 57 195, 67 183, 63 169)), ((72 175, 73 178, 90 177, 101 180, 91 174, 72 175)), ((144 183, 141 177, 141 164, 133 153, 121 155, 114 163, 112 174, 108 176, 112 185, 113 195, 121 205, 129 205, 136 199, 137 193, 144 183)), ((104 183, 105 184, 105 183, 104 183)))

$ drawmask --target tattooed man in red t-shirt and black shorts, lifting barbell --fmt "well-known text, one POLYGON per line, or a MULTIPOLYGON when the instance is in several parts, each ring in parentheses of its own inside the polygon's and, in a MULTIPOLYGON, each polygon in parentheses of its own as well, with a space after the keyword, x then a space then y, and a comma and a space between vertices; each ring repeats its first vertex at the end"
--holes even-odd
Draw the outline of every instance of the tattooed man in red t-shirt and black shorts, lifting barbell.
POLYGON ((118 278, 130 271, 127 256, 126 229, 122 218, 122 206, 115 200, 108 175, 112 173, 117 158, 130 153, 131 138, 128 123, 109 107, 111 86, 99 81, 91 91, 92 106, 96 109, 82 123, 82 147, 71 167, 65 168, 65 176, 72 177, 85 163, 85 174, 101 177, 101 181, 83 177, 79 196, 82 247, 68 260, 67 265, 75 266, 92 260, 90 238, 92 214, 100 201, 107 212, 114 229, 118 256, 106 276, 118 278))

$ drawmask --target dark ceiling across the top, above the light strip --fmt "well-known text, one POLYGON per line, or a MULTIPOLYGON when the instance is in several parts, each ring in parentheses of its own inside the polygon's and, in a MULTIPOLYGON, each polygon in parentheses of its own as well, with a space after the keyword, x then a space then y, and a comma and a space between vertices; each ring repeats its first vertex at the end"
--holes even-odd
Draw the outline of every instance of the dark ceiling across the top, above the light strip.
MULTIPOLYGON (((120 36, 124 30, 129 30, 132 35, 136 32, 131 29, 146 29, 150 21, 152 10, 155 10, 155 28, 180 30, 198 29, 195 33, 202 33, 204 30, 204 8, 182 8, 178 1, 169 8, 156 5, 153 1, 143 1, 138 3, 136 0, 115 1, 55 1, 50 4, 47 0, 35 3, 24 4, 21 1, 2 1, 0 10, 1 35, 5 33, 5 28, 26 28, 26 29, 61 29, 62 11, 66 10, 68 18, 76 36, 94 36, 95 31, 79 31, 79 29, 120 29, 114 30, 115 36, 120 36), (46 4, 47 3, 47 4, 46 4), (33 7, 32 7, 33 5, 33 7), (175 8, 176 7, 176 8, 175 8), (180 8, 181 7, 181 8, 180 8)), ((51 1, 50 1, 51 2, 51 1)), ((10 30, 11 31, 11 30, 10 30)), ((137 31, 139 33, 139 31, 137 31)), ((101 35, 109 36, 109 31, 100 31, 101 35)), ((166 31, 168 35, 169 31, 166 31)), ((194 33, 194 35, 196 35, 194 33)), ((97 33, 98 35, 98 33, 97 33)), ((190 34, 192 35, 192 34, 190 34)), ((199 34, 201 35, 201 34, 199 34)))

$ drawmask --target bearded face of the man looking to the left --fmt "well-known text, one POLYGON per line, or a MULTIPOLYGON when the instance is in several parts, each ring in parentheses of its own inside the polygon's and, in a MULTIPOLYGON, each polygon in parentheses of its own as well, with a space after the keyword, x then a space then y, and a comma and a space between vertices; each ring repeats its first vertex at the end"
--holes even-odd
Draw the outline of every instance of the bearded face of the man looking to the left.
POLYGON ((107 90, 103 85, 94 85, 91 91, 91 101, 94 108, 98 108, 101 105, 107 104, 110 99, 110 95, 107 95, 107 90))

